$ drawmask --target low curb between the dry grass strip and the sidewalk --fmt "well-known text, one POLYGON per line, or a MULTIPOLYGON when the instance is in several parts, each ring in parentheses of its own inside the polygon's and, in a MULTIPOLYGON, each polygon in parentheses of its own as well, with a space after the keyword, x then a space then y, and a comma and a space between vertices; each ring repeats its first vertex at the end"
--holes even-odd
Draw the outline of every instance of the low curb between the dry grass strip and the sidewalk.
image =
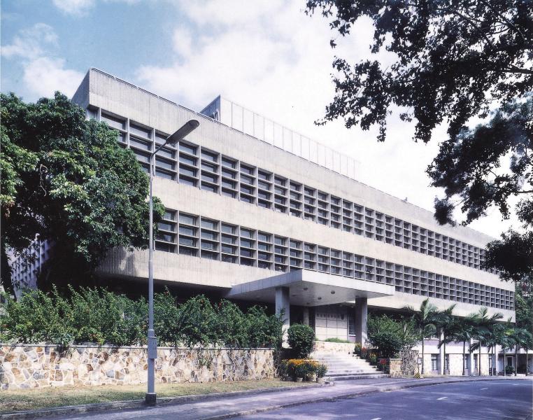
MULTIPOLYGON (((307 385, 304 388, 318 388, 322 386, 333 386, 333 382, 326 382, 324 384, 307 385)), ((280 386, 279 388, 264 388, 253 389, 250 391, 232 391, 232 392, 217 392, 210 394, 197 395, 182 395, 178 397, 163 397, 157 398, 157 405, 171 405, 171 404, 186 404, 187 402, 194 402, 198 400, 210 401, 225 397, 241 397, 246 395, 255 395, 262 393, 271 393, 276 391, 290 391, 296 387, 294 386, 280 386)), ((146 407, 144 400, 129 400, 117 402, 100 402, 96 404, 85 405, 67 405, 64 407, 46 408, 46 409, 32 409, 22 412, 11 412, 0 414, 1 420, 26 420, 36 419, 45 416, 65 416, 67 414, 86 414, 91 412, 104 412, 109 410, 119 409, 135 409, 146 407)))

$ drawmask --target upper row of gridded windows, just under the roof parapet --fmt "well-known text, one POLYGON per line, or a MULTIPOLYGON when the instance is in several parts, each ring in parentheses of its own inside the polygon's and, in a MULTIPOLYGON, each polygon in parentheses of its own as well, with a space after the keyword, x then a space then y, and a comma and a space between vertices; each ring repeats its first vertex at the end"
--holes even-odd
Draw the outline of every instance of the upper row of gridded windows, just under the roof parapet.
MULTIPOLYGON (((101 114, 101 120, 120 130, 119 141, 134 151, 148 172, 149 153, 154 147, 152 139, 156 144, 162 144, 165 135, 106 113, 101 114)), ((176 148, 162 148, 155 157, 155 173, 266 209, 499 274, 497 270, 485 269, 485 250, 482 248, 194 144, 180 142, 176 148)))

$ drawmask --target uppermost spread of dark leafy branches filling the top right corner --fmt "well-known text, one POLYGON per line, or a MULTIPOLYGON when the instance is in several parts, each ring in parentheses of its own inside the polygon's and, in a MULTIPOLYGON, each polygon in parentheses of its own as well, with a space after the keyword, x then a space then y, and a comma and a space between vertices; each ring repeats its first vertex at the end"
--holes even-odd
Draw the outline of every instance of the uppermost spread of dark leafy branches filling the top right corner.
POLYGON ((341 117, 363 130, 378 125, 381 141, 393 106, 407 109, 401 119, 414 119, 415 139, 427 142, 436 125, 448 122, 454 137, 472 116, 486 116, 492 102, 510 102, 533 85, 529 0, 308 0, 306 6, 341 36, 362 16, 370 18, 371 52, 394 53, 386 67, 378 59, 351 64, 336 57, 335 96, 326 109, 326 121, 341 117))

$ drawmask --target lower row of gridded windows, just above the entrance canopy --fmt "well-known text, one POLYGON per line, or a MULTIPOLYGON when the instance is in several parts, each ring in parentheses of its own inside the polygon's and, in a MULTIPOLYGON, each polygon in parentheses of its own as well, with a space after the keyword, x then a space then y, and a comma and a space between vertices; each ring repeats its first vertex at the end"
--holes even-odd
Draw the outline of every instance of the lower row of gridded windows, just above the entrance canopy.
POLYGON ((173 210, 159 223, 155 247, 278 272, 310 269, 390 284, 413 295, 513 309, 509 290, 173 210))

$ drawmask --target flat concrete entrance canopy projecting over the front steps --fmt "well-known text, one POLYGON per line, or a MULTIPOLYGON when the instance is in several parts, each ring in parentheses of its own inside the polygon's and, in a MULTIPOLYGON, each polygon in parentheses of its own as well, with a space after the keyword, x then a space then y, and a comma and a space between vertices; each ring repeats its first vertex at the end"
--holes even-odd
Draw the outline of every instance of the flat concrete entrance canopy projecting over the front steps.
POLYGON ((236 284, 226 297, 275 302, 276 288, 280 287, 289 288, 290 304, 308 307, 354 302, 358 297, 370 299, 395 294, 395 287, 387 284, 299 269, 236 284))

